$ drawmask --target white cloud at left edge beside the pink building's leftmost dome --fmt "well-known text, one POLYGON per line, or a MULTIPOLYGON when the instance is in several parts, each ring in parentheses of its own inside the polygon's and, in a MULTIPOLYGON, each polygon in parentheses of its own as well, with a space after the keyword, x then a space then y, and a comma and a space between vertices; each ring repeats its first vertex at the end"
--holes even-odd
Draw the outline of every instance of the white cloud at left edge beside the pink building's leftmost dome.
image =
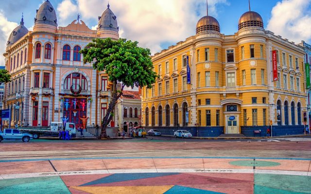
MULTIPOLYGON (((0 10, 0 53, 5 52, 6 43, 11 32, 18 26, 17 23, 8 21, 8 19, 4 16, 3 11, 0 10)), ((0 65, 4 64, 4 57, 0 54, 0 65)))

